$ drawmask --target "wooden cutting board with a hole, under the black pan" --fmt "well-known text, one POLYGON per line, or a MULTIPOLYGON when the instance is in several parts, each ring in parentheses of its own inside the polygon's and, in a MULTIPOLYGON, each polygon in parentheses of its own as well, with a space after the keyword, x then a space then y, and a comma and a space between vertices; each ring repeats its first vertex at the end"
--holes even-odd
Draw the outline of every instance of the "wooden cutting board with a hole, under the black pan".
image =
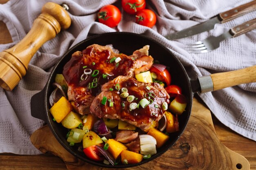
MULTIPOLYGON (((43 153, 50 152, 63 159, 68 170, 104 169, 76 159, 58 143, 47 125, 35 131, 31 135, 31 141, 43 153)), ((220 143, 209 109, 194 98, 189 123, 174 146, 153 161, 127 169, 152 168, 154 170, 249 170, 250 165, 245 157, 220 143)))

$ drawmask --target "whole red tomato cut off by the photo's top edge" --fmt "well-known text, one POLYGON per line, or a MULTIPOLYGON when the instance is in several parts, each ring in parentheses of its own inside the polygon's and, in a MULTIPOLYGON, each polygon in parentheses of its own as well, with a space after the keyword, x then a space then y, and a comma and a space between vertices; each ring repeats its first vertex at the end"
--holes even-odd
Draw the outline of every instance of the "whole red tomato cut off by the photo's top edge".
POLYGON ((135 14, 137 11, 145 9, 145 0, 122 0, 122 7, 124 11, 130 14, 135 14))

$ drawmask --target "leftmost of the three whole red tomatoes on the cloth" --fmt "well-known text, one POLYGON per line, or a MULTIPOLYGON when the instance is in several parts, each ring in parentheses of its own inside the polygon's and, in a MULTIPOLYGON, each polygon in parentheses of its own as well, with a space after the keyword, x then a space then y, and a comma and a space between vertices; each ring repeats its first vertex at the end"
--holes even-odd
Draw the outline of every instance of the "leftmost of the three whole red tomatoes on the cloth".
POLYGON ((115 27, 121 20, 121 12, 114 5, 106 5, 99 10, 98 20, 109 27, 115 27))

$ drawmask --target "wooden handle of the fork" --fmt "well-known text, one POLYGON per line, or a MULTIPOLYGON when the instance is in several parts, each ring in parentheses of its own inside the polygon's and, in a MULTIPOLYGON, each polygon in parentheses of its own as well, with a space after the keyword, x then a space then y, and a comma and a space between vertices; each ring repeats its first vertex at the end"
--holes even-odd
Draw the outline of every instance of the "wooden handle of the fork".
POLYGON ((236 37, 238 35, 247 33, 248 31, 251 31, 256 28, 256 19, 247 21, 243 24, 240 24, 230 30, 230 33, 233 35, 233 37, 236 37))

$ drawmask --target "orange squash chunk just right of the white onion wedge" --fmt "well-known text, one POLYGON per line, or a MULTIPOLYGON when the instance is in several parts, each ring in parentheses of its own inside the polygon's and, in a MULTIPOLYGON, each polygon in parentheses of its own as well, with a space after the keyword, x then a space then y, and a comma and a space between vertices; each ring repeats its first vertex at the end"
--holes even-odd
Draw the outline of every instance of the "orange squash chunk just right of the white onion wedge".
POLYGON ((162 133, 161 131, 155 128, 150 129, 147 134, 153 136, 156 139, 156 148, 160 148, 161 146, 163 146, 165 142, 167 142, 167 140, 169 139, 168 135, 162 133))

